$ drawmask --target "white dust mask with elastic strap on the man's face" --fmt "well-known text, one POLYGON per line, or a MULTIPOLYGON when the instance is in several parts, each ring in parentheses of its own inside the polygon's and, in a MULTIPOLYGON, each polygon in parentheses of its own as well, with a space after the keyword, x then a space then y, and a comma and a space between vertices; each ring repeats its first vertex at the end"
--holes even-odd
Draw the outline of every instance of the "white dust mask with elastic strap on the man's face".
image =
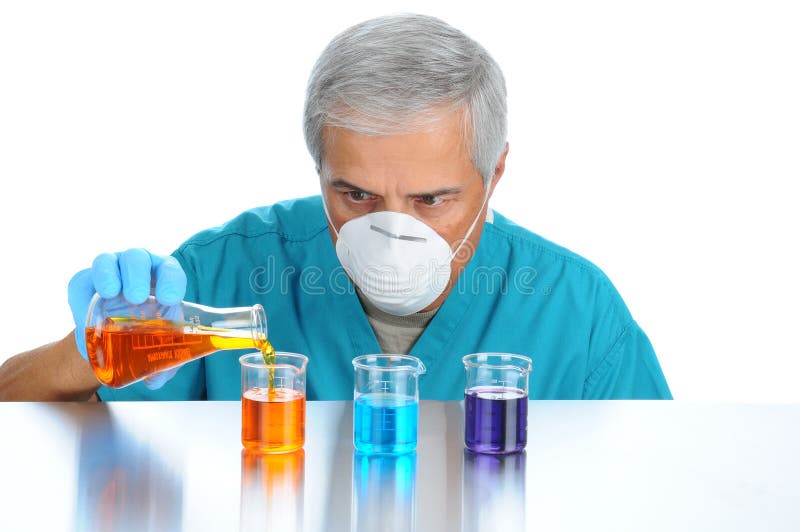
POLYGON ((455 249, 430 226, 400 212, 381 211, 354 218, 339 231, 325 215, 336 236, 336 255, 342 267, 369 301, 395 316, 419 312, 442 295, 450 280, 450 264, 475 229, 489 198, 455 249))

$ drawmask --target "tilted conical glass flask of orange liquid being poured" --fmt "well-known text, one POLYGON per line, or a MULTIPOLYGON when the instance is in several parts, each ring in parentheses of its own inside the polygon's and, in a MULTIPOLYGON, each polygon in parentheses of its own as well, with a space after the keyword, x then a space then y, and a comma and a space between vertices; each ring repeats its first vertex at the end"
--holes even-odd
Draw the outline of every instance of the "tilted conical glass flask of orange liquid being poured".
POLYGON ((212 308, 182 301, 140 305, 95 294, 86 316, 86 351, 98 380, 122 388, 223 349, 272 351, 264 307, 212 308))

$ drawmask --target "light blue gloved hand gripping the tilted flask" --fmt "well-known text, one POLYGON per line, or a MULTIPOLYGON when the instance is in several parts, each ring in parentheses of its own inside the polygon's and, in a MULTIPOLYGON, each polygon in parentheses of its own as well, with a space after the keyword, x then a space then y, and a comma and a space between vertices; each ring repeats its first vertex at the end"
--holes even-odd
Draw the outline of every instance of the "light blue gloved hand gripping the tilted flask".
MULTIPOLYGON (((110 299, 119 295, 138 305, 150 295, 155 278, 154 295, 163 305, 175 305, 186 295, 186 273, 174 257, 153 255, 144 249, 98 255, 92 267, 81 270, 69 282, 68 297, 75 321, 75 343, 86 360, 86 313, 95 292, 110 299)), ((156 373, 144 379, 150 389, 161 388, 178 368, 156 373)))

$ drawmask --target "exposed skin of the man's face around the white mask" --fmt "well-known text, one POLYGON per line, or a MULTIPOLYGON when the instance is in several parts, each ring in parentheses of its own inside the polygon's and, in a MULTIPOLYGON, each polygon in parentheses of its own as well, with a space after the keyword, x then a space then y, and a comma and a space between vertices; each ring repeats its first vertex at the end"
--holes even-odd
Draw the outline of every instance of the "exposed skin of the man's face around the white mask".
MULTIPOLYGON (((483 230, 486 189, 464 145, 461 114, 451 112, 432 131, 368 136, 341 128, 323 130, 322 193, 338 231, 371 212, 402 212, 432 227, 449 244, 461 243, 475 217, 479 222, 452 262, 450 284, 430 306, 437 308, 472 257, 483 230), (480 212, 478 212, 480 209, 480 212)), ((490 195, 503 174, 500 157, 490 195)), ((488 204, 488 202, 487 202, 488 204)), ((336 233, 331 229, 336 242, 336 233)))

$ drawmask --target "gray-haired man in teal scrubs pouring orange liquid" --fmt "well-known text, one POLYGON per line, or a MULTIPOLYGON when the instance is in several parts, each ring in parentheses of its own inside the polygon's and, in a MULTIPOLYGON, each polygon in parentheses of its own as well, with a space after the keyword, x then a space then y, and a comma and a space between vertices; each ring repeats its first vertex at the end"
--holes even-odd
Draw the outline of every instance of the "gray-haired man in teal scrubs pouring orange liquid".
POLYGON ((231 399, 238 352, 112 390, 86 362, 90 298, 261 303, 269 338, 309 356, 309 399, 352 398, 351 360, 410 353, 423 399, 463 397, 463 355, 531 357, 531 397, 669 398, 645 334, 585 259, 489 208, 505 169, 506 91, 488 53, 431 17, 337 36, 308 84, 321 196, 247 211, 171 257, 98 256, 70 282, 76 332, 0 371, 16 399, 231 399), (152 277, 152 281, 151 281, 152 277))

